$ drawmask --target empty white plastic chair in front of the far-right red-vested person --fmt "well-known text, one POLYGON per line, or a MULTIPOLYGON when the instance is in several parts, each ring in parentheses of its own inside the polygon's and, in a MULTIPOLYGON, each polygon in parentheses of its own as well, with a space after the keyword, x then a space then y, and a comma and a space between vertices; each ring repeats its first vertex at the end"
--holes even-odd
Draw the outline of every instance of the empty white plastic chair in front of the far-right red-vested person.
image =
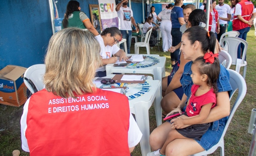
POLYGON ((228 53, 232 58, 231 64, 236 65, 236 72, 239 73, 240 67, 242 66, 244 67, 243 78, 245 79, 246 69, 247 69, 247 62, 245 61, 245 56, 246 56, 248 43, 245 40, 238 37, 224 37, 220 44, 223 46, 224 42, 226 42, 226 45, 228 46, 228 53), (242 59, 237 58, 237 49, 240 43, 244 44, 242 59))

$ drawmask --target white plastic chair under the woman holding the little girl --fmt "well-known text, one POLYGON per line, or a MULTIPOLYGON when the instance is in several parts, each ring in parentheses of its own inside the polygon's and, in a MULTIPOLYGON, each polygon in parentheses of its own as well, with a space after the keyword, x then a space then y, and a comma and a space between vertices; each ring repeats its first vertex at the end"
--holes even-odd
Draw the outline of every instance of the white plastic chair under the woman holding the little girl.
POLYGON ((247 90, 247 87, 246 87, 246 83, 245 83, 245 80, 243 79, 243 77, 231 70, 231 69, 228 69, 229 71, 229 74, 230 74, 230 85, 232 87, 232 92, 230 93, 230 97, 229 97, 229 100, 232 98, 233 94, 235 93, 235 91, 238 89, 238 95, 237 95, 237 98, 236 98, 236 101, 231 109, 231 112, 229 114, 229 118, 228 118, 228 121, 225 125, 225 128, 224 128, 224 131, 221 135, 221 138, 219 140, 219 142, 214 145, 212 148, 210 148, 208 151, 202 151, 200 153, 197 153, 197 154, 193 154, 193 155, 190 155, 190 156, 207 156, 207 154, 211 154, 213 153, 214 151, 217 150, 218 147, 220 147, 220 156, 224 156, 224 135, 229 127, 229 123, 237 109, 237 107, 240 105, 240 103, 242 102, 245 94, 246 94, 246 90, 247 90))

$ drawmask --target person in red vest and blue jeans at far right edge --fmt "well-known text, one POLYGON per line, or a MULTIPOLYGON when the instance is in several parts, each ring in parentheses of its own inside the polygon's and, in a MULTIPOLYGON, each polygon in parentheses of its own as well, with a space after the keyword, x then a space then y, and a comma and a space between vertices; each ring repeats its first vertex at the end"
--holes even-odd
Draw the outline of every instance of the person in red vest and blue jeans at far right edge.
MULTIPOLYGON (((239 38, 246 41, 247 33, 250 31, 251 25, 253 24, 253 19, 256 15, 254 10, 254 5, 251 0, 238 0, 239 3, 236 4, 235 14, 233 19, 233 30, 238 31, 239 38)), ((237 58, 241 58, 244 50, 244 45, 239 44, 237 50, 237 58)))

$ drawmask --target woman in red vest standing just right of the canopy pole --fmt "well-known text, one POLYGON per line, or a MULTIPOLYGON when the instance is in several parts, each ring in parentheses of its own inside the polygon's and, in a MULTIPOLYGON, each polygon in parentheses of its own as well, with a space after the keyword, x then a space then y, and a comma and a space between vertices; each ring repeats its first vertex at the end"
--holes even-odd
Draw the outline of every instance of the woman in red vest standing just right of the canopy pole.
MULTIPOLYGON (((219 14, 218 11, 215 9, 216 6, 216 0, 211 0, 210 4, 210 16, 209 16, 209 31, 214 32, 214 34, 217 37, 217 34, 219 34, 219 14)), ((204 7, 204 11, 206 12, 206 5, 204 7)))

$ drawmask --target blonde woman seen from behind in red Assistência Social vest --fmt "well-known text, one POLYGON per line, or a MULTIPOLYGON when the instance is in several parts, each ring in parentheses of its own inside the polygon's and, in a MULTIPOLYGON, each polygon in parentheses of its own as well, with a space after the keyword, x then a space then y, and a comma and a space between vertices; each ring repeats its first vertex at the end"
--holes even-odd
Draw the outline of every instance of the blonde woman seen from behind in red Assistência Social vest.
POLYGON ((45 89, 25 103, 22 149, 30 156, 130 156, 142 133, 128 98, 95 87, 101 46, 80 28, 54 34, 45 57, 45 89))

